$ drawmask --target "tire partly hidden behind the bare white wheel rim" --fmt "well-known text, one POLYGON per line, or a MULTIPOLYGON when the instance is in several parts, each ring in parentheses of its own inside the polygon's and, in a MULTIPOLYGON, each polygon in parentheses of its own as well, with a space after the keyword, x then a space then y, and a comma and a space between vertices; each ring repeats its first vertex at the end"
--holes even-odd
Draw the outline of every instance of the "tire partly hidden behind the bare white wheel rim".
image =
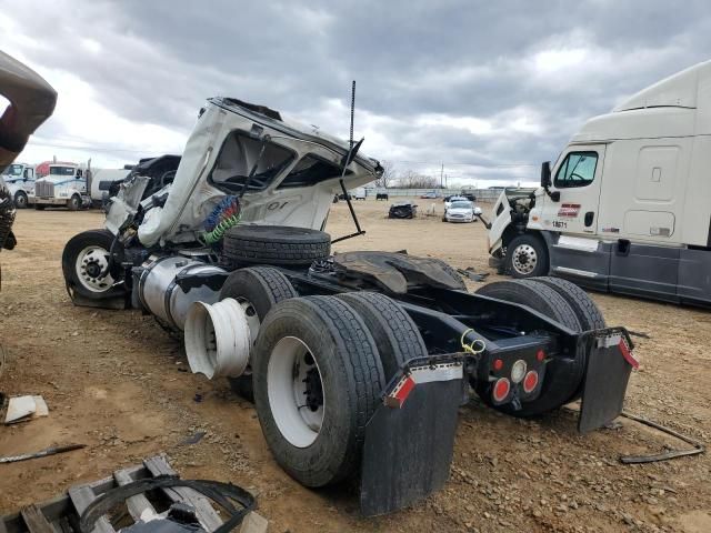
MULTIPOLYGON (((259 326, 269 310, 282 300, 298 295, 289 279, 269 266, 236 270, 230 273, 220 290, 220 300, 233 298, 244 309, 253 341, 257 340, 259 326)), ((239 378, 228 378, 228 381, 236 394, 250 402, 254 401, 251 368, 248 366, 239 378)))

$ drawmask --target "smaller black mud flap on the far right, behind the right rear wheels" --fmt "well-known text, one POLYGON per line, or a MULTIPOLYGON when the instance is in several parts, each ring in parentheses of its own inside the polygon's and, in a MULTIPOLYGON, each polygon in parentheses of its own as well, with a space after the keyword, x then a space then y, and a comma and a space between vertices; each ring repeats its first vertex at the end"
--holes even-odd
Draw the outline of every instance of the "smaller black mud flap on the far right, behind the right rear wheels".
POLYGON ((591 345, 578 419, 580 433, 602 428, 620 415, 630 372, 639 365, 623 328, 593 332, 588 342, 591 345))

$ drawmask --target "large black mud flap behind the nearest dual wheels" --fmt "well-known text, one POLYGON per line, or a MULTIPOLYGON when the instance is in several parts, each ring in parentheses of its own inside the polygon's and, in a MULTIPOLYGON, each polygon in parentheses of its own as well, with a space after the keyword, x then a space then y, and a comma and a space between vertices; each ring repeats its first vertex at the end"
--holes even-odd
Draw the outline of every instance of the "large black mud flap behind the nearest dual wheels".
POLYGON ((463 385, 461 359, 420 366, 411 362, 391 382, 365 429, 363 515, 397 511, 444 485, 463 385))

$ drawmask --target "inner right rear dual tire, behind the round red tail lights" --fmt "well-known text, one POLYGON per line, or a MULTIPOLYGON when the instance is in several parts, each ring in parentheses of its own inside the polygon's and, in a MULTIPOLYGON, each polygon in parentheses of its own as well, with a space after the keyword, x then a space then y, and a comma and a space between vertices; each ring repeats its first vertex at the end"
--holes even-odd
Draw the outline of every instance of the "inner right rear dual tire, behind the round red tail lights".
MULTIPOLYGON (((528 305, 575 332, 582 331, 575 312, 565 299, 539 281, 499 281, 482 286, 477 294, 528 305)), ((492 405, 490 383, 475 383, 472 386, 484 403, 499 411, 520 418, 539 416, 572 401, 582 384, 585 362, 585 353, 582 351, 574 358, 549 362, 540 395, 532 402, 522 403, 518 411, 510 404, 492 405)))

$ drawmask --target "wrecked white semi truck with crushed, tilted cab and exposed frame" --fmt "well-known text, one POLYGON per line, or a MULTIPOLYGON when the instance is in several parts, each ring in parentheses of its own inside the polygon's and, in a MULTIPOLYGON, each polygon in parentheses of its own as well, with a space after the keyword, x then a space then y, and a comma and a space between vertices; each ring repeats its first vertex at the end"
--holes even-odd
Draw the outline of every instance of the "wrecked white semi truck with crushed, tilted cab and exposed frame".
POLYGON ((307 486, 359 479, 367 515, 444 484, 470 388, 515 416, 582 399, 582 432, 617 418, 632 344, 574 285, 472 294, 435 259, 331 253, 334 193, 382 172, 361 142, 209 100, 182 157, 142 161, 106 229, 67 243, 69 294, 183 330, 194 372, 253 396, 277 462, 307 486))

